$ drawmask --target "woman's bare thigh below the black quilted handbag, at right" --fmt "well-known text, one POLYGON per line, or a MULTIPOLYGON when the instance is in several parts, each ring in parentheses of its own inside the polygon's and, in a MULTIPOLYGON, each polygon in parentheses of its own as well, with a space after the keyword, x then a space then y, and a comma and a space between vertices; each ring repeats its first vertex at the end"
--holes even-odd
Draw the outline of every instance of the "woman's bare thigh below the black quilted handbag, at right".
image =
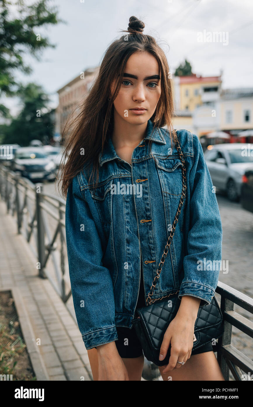
MULTIPOLYGON (((159 370, 163 370, 164 367, 159 370)), ((224 381, 220 366, 213 351, 191 355, 180 368, 162 374, 165 381, 224 381)))

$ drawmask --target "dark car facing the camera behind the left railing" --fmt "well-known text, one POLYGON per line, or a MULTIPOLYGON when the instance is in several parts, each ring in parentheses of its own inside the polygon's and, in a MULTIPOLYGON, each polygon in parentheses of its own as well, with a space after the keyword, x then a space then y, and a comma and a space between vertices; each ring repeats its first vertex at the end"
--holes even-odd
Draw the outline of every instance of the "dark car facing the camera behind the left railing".
POLYGON ((31 181, 55 179, 55 164, 41 147, 17 149, 11 169, 18 171, 22 177, 29 178, 31 181))

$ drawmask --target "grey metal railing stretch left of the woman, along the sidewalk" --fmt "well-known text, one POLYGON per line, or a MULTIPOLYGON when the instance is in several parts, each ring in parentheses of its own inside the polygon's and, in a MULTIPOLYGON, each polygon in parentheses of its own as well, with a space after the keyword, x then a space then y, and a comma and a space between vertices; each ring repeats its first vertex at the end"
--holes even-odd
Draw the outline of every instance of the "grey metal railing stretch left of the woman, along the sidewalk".
POLYGON ((0 195, 6 202, 7 213, 17 219, 17 233, 24 235, 37 257, 35 267, 39 277, 48 278, 66 303, 71 296, 71 287, 65 278, 65 201, 43 193, 43 184, 35 185, 3 166, 0 167, 0 195), (49 260, 52 261, 53 275, 46 267, 49 260))

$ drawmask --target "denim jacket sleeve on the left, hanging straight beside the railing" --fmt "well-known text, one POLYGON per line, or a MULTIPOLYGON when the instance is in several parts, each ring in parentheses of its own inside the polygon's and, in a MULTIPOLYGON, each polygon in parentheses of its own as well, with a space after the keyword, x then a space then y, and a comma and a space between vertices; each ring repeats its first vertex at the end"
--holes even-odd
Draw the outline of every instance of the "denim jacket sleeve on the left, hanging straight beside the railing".
POLYGON ((118 336, 112 278, 102 266, 101 241, 78 176, 67 191, 65 225, 74 309, 88 350, 118 336))

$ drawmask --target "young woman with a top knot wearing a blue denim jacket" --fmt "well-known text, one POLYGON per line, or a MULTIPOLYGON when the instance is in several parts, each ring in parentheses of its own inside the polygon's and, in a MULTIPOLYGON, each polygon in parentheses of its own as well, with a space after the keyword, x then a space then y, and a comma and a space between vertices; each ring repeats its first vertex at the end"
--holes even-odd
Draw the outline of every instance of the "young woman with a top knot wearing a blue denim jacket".
POLYGON ((152 299, 178 295, 164 335, 171 344, 163 380, 224 380, 215 346, 192 351, 199 306, 210 304, 221 259, 221 218, 201 144, 173 130, 169 66, 144 23, 130 18, 128 35, 104 55, 65 149, 69 276, 94 380, 141 380, 143 350, 132 326, 147 296, 182 193, 186 197, 152 299), (166 128, 165 128, 166 127, 166 128), (184 363, 183 363, 184 362, 184 363))

